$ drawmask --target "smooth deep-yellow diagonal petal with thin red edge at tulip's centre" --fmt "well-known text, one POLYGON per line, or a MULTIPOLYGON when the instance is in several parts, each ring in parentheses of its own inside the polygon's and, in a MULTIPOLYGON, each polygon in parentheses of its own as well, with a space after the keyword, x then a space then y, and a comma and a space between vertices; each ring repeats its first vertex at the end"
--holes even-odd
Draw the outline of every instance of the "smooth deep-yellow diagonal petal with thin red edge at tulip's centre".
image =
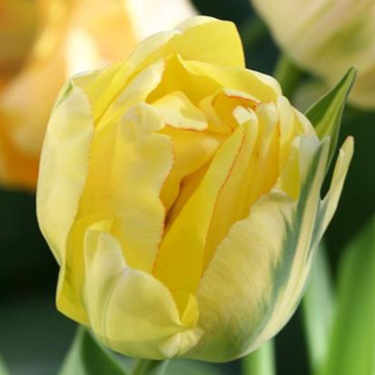
POLYGON ((177 297, 195 294, 201 278, 206 236, 216 199, 231 173, 243 140, 244 132, 238 128, 217 150, 203 180, 160 244, 153 274, 175 293, 181 314, 187 301, 177 297))

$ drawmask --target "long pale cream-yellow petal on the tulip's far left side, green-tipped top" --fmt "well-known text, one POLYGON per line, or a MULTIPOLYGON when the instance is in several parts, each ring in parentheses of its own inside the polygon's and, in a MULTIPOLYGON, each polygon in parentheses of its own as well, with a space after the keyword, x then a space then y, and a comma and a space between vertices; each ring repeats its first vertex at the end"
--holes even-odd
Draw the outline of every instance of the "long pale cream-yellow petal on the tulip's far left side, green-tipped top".
POLYGON ((40 229, 59 263, 86 182, 93 130, 89 101, 72 80, 62 89, 47 127, 36 197, 40 229))

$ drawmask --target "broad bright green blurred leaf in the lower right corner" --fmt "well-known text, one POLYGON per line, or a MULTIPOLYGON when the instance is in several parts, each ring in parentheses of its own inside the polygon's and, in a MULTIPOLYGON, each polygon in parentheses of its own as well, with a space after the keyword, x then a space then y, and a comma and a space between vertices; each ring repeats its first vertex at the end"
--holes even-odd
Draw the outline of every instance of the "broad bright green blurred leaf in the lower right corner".
POLYGON ((337 310, 321 375, 375 373, 375 216, 347 247, 337 310))

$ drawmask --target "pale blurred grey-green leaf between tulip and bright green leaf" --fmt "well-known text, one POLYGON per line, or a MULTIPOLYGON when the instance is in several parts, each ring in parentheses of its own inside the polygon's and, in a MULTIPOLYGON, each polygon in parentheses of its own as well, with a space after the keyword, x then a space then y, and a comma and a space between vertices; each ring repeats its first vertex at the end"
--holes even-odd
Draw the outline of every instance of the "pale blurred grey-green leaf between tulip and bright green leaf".
POLYGON ((317 373, 326 359, 334 308, 331 275, 323 244, 317 251, 311 276, 303 297, 303 316, 309 360, 317 373))

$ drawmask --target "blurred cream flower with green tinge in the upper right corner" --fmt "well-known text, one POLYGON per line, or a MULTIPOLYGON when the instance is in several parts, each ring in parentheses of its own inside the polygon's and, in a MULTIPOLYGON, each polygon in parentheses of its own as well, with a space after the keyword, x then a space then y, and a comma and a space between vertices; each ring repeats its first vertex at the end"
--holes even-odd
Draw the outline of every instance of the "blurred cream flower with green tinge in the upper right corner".
POLYGON ((328 86, 350 66, 358 71, 349 97, 375 109, 374 0, 252 0, 281 49, 328 86))

